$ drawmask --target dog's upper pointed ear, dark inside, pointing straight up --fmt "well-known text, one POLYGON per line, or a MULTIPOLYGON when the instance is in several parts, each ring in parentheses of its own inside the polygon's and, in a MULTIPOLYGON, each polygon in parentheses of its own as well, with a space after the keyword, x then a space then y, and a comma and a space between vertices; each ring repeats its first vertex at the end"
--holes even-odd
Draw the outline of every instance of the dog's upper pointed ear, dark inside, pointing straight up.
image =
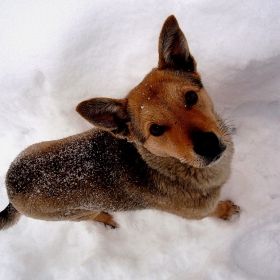
POLYGON ((169 16, 163 24, 159 36, 158 52, 158 69, 196 71, 196 62, 190 54, 185 35, 173 15, 169 16))

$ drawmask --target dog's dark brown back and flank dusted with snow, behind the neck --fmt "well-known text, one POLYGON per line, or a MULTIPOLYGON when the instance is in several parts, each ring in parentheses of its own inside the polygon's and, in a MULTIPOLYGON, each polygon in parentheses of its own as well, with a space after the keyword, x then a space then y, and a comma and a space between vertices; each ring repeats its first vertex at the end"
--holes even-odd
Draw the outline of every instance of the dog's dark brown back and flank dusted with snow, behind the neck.
POLYGON ((150 187, 147 174, 133 144, 93 129, 29 147, 11 164, 6 185, 10 202, 21 213, 65 220, 67 214, 57 217, 58 211, 149 207, 143 196, 150 187))

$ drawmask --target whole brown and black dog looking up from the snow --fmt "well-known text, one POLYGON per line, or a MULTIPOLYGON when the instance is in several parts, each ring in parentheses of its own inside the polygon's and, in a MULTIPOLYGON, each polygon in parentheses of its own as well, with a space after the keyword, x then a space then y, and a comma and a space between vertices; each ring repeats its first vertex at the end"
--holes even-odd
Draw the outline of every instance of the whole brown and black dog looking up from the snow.
POLYGON ((1 229, 21 215, 117 227, 109 213, 155 209, 227 220, 240 212, 232 201, 219 201, 234 151, 229 128, 173 15, 163 24, 158 52, 158 67, 124 99, 77 106, 95 128, 17 156, 6 175, 1 229))

